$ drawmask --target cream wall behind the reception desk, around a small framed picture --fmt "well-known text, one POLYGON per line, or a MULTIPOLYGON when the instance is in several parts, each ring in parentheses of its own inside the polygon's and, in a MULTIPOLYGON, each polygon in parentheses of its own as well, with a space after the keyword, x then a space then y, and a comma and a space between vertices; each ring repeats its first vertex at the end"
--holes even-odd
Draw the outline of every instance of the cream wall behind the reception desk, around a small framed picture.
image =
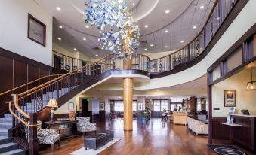
MULTIPOLYGON (((253 69, 253 78, 256 78, 256 68, 253 69)), ((242 109, 248 109, 256 115, 256 91, 245 90, 246 84, 251 81, 250 68, 215 84, 212 87, 212 117, 227 117, 229 107, 224 107, 224 90, 236 90, 236 114, 242 109), (220 110, 214 110, 220 108, 220 110)))

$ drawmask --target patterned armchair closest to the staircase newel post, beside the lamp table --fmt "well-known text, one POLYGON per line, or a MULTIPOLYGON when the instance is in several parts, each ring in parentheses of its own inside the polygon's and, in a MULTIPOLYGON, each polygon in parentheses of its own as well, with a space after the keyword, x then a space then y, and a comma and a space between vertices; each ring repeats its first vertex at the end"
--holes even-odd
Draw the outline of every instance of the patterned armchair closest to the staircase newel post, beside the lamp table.
POLYGON ((60 134, 55 129, 42 129, 41 121, 37 121, 37 137, 39 138, 39 144, 51 144, 51 150, 54 150, 56 142, 60 147, 60 134))

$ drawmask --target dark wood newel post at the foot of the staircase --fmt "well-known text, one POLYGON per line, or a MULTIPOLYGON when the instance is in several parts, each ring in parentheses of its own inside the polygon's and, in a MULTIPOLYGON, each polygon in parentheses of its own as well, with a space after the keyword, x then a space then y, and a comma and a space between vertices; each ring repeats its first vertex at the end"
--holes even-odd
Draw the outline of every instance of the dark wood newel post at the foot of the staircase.
MULTIPOLYGON (((37 114, 30 114, 29 124, 37 124, 37 114)), ((39 139, 37 138, 37 126, 29 126, 29 155, 39 154, 39 139)))

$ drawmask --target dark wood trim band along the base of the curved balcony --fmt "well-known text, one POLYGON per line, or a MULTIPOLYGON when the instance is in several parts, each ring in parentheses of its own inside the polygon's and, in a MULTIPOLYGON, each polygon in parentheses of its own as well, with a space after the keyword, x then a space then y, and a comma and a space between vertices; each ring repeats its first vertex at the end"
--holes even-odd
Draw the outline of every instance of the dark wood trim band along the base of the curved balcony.
POLYGON ((150 78, 161 78, 161 77, 168 76, 170 74, 176 74, 180 71, 184 71, 184 70, 192 67, 193 65, 196 65, 198 62, 200 62, 202 59, 204 59, 205 56, 207 56, 208 53, 210 53, 211 49, 214 47, 214 45, 217 43, 217 41, 219 41, 219 39, 224 34, 224 32, 226 32, 226 30, 228 29, 230 24, 233 23, 233 20, 235 20, 235 18, 240 13, 240 11, 242 11, 242 8, 245 7, 247 2, 248 2, 248 0, 242 0, 242 1, 238 1, 236 3, 236 5, 230 11, 229 15, 226 17, 224 22, 221 24, 220 28, 217 30, 217 32, 215 33, 215 35, 211 39, 208 46, 205 47, 205 50, 199 56, 197 56, 196 59, 193 59, 192 61, 187 62, 184 65, 180 65, 179 67, 174 68, 171 71, 165 71, 165 72, 162 72, 162 73, 151 74, 150 78))

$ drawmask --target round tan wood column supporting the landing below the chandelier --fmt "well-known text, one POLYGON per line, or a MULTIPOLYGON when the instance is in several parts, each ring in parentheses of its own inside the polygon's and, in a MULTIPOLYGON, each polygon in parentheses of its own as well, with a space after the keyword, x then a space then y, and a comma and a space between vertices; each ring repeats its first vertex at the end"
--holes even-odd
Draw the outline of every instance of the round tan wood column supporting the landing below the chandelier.
POLYGON ((124 90, 124 130, 132 131, 133 111, 133 79, 123 79, 123 90, 124 90))

